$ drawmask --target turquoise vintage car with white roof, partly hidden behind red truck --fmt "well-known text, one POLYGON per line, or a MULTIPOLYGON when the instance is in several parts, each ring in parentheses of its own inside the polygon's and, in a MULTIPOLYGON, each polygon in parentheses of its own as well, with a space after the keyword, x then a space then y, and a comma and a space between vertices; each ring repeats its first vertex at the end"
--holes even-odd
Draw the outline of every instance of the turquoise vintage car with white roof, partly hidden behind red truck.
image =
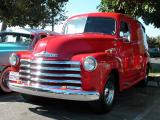
POLYGON ((4 92, 11 92, 8 88, 10 54, 32 50, 39 39, 53 34, 56 33, 40 29, 14 29, 0 32, 0 87, 4 92))

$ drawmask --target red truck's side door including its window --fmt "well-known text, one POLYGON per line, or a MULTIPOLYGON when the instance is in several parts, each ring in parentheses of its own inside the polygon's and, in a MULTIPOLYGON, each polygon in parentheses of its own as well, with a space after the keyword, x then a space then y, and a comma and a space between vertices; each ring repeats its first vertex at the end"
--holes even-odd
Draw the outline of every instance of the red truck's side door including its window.
POLYGON ((121 60, 123 63, 123 76, 125 86, 130 86, 134 80, 134 46, 132 42, 131 29, 127 20, 120 23, 121 60))

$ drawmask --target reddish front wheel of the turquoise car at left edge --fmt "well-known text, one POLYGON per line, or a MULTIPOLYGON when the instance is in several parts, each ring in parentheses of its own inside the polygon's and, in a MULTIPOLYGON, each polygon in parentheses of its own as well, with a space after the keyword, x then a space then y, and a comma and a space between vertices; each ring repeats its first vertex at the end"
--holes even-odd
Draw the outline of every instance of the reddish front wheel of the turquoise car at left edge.
POLYGON ((6 68, 0 77, 0 87, 4 92, 12 92, 8 87, 10 67, 6 68))

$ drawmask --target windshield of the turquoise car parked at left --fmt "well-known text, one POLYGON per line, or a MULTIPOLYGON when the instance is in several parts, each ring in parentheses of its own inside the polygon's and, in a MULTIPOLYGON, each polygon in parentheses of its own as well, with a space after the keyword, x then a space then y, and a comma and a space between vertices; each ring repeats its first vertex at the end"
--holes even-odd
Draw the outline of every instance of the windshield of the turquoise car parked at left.
POLYGON ((33 35, 20 34, 20 33, 1 33, 0 43, 18 43, 26 46, 31 45, 33 41, 33 35))

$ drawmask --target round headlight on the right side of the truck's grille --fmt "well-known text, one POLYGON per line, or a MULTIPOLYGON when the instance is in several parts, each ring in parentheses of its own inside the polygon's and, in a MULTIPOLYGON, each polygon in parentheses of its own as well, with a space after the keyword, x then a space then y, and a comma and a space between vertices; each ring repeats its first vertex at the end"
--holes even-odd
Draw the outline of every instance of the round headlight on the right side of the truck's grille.
POLYGON ((86 57, 83 61, 83 67, 86 71, 93 71, 97 67, 97 60, 94 57, 86 57))

